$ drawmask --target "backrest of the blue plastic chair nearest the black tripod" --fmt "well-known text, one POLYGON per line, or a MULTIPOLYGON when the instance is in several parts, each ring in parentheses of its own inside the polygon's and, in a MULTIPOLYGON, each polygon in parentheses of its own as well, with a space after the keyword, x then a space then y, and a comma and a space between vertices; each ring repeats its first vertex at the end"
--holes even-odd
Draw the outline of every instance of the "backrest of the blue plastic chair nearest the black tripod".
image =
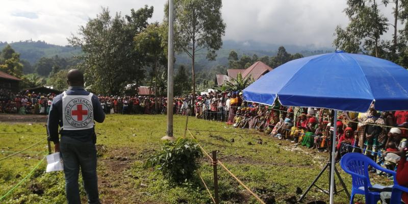
POLYGON ((364 187, 364 183, 367 184, 367 187, 372 186, 368 174, 368 166, 374 166, 375 162, 369 157, 361 153, 347 153, 341 158, 340 165, 344 171, 351 174, 353 188, 364 187), (364 176, 364 179, 355 174, 364 176))

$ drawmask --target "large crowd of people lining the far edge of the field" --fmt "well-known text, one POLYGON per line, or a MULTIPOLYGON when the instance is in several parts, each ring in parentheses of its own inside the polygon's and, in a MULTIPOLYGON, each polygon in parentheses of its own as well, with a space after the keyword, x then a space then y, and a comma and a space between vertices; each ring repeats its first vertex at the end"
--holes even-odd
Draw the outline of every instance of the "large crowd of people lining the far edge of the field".
MULTIPOLYGON (((47 114, 55 94, 0 90, 0 112, 47 114)), ((167 98, 151 96, 101 96, 106 114, 166 114, 167 98)), ((209 92, 174 97, 173 113, 226 122, 236 128, 263 132, 297 145, 328 151, 333 134, 333 111, 321 108, 259 105, 245 101, 242 92, 209 92)), ((361 152, 394 169, 406 147, 408 111, 338 112, 337 160, 347 152, 361 152)))

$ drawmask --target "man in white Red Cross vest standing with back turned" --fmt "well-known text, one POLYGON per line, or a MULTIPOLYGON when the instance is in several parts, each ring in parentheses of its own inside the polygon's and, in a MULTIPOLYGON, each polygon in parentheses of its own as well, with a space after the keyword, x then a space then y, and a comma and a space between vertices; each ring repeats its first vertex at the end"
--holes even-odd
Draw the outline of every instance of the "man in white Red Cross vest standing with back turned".
POLYGON ((55 151, 61 152, 64 161, 68 203, 81 203, 78 185, 80 167, 88 203, 99 203, 94 120, 103 122, 105 113, 98 97, 85 91, 81 71, 69 70, 67 82, 68 90, 54 98, 49 110, 48 140, 54 142, 55 151), (58 126, 61 127, 59 133, 58 126))

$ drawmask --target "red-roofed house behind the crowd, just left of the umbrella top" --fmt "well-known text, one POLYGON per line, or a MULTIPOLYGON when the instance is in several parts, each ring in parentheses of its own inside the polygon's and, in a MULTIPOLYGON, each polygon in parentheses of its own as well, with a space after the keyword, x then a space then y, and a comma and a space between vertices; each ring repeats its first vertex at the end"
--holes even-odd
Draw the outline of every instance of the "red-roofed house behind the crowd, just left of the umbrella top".
POLYGON ((246 69, 227 69, 227 75, 217 74, 217 84, 222 86, 224 82, 230 81, 231 79, 237 78, 238 73, 241 73, 243 78, 250 77, 253 80, 257 81, 263 75, 271 71, 272 68, 266 65, 265 63, 258 61, 253 63, 250 67, 246 69))

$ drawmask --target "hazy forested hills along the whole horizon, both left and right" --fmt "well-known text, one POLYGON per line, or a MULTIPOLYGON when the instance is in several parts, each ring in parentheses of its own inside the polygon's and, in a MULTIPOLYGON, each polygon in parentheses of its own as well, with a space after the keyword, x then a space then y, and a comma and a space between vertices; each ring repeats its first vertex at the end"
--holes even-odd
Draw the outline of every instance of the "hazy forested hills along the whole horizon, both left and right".
MULTIPOLYGON (((19 42, 1 42, 0 41, 0 50, 2 50, 7 44, 10 44, 11 47, 17 52, 20 53, 20 59, 27 60, 30 64, 34 65, 42 57, 51 58, 55 55, 58 55, 60 58, 70 58, 74 55, 80 55, 81 49, 74 48, 72 46, 60 46, 54 44, 48 44, 44 41, 19 41, 19 42)), ((275 56, 277 48, 281 46, 278 44, 267 44, 259 43, 254 41, 245 41, 245 42, 236 42, 231 40, 225 40, 223 46, 220 50, 217 51, 216 61, 209 62, 205 55, 199 55, 196 59, 197 70, 203 68, 211 68, 216 65, 227 65, 228 64, 228 55, 231 50, 235 50, 238 53, 238 56, 242 55, 253 56, 256 54, 259 57, 262 56, 275 56)), ((317 48, 312 45, 308 46, 297 46, 297 45, 284 45, 286 50, 289 53, 300 53, 304 57, 317 55, 327 52, 333 52, 334 48, 324 47, 317 48)), ((180 54, 176 57, 176 65, 180 64, 191 64, 191 59, 185 55, 180 54)), ((177 66, 176 66, 177 67, 177 66)))

